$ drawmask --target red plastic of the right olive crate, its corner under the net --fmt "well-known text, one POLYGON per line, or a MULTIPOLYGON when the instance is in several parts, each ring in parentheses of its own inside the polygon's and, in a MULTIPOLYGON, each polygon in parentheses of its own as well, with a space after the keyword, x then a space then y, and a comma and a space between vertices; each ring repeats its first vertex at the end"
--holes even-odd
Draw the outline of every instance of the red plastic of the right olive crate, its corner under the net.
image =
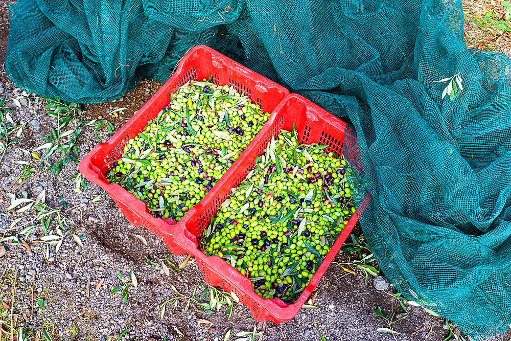
POLYGON ((286 96, 273 110, 273 114, 252 141, 251 148, 247 148, 238 158, 239 166, 229 174, 222 186, 215 186, 210 191, 211 195, 202 199, 190 210, 190 214, 179 222, 179 228, 176 229, 174 237, 187 253, 196 258, 205 282, 212 286, 221 286, 229 292, 235 292, 240 302, 250 308, 251 316, 255 320, 271 320, 275 323, 282 323, 291 320, 305 303, 358 221, 357 214, 361 214, 367 207, 370 196, 367 195, 364 198, 357 208, 357 213, 352 216, 330 252, 325 256, 309 285, 294 304, 288 305, 280 299, 263 299, 252 290, 251 281, 238 270, 220 257, 206 256, 200 251, 197 247, 197 239, 201 238, 205 226, 210 223, 211 217, 216 214, 222 202, 231 194, 231 188, 238 186, 245 179, 247 172, 255 165, 255 158, 263 154, 272 135, 278 134, 281 129, 291 130, 294 122, 300 143, 328 144, 327 151, 337 154, 344 151, 345 155, 350 155, 350 161, 357 156, 356 135, 354 135, 353 127, 304 97, 296 94, 286 96), (345 134, 349 135, 345 136, 345 134))

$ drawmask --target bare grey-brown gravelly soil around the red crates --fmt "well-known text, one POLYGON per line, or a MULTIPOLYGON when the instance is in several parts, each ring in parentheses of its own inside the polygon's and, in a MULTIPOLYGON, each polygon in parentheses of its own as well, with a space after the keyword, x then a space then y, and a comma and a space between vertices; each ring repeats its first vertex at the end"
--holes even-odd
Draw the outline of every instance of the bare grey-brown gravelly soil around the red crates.
MULTIPOLYGON (((0 3, 0 7, 3 3, 0 3)), ((0 63, 3 65, 7 46, 8 22, 5 7, 0 18, 0 63)), ((22 96, 19 90, 0 72, 0 96, 7 99, 22 96)), ((159 88, 161 84, 146 81, 132 92, 109 103, 83 105, 83 112, 77 120, 107 119, 119 129, 159 88), (125 107, 121 112, 111 111, 125 107)), ((235 304, 230 319, 224 316, 226 307, 219 312, 204 314, 197 312, 193 305, 183 312, 185 304, 180 302, 176 309, 167 305, 161 318, 161 305, 176 294, 172 286, 187 295, 202 282, 202 274, 192 258, 181 271, 170 271, 166 275, 160 260, 181 264, 185 256, 175 256, 159 238, 142 226, 129 224, 115 203, 98 186, 87 181, 87 189, 75 192, 75 180, 71 178, 78 166, 70 163, 62 172, 34 171, 30 177, 19 181, 24 165, 16 161, 35 162, 31 153, 45 143, 41 137, 49 136, 55 126, 55 119, 43 109, 45 103, 37 96, 30 95, 31 102, 22 101, 18 107, 12 101, 7 106, 15 124, 30 122, 21 130, 19 140, 7 148, 0 164, 0 238, 14 235, 30 225, 36 212, 9 211, 8 193, 17 197, 26 192, 35 199, 45 191, 46 204, 67 219, 73 234, 83 236, 80 246, 71 234, 64 238, 59 252, 50 247, 48 259, 44 257, 46 244, 38 221, 26 237, 26 245, 0 243, 0 340, 11 338, 11 332, 22 327, 29 332, 30 340, 44 339, 42 329, 53 340, 117 340, 129 328, 121 340, 215 340, 223 339, 224 333, 233 328, 230 339, 236 333, 264 328, 264 335, 256 340, 428 340, 441 341, 447 336, 444 319, 433 316, 421 307, 406 305, 410 312, 401 321, 392 324, 396 334, 377 331, 389 326, 375 313, 381 307, 384 313, 391 309, 397 314, 404 313, 399 302, 391 294, 392 286, 377 290, 373 277, 365 283, 360 270, 355 274, 346 272, 332 264, 317 286, 314 306, 318 309, 302 309, 289 322, 274 324, 256 322, 250 319, 250 311, 243 305, 235 304), (28 154, 24 150, 29 151, 28 154), (98 198, 98 195, 102 195, 98 198), (15 219, 20 221, 13 224, 15 219), (13 224, 13 225, 12 225, 13 224), (134 235, 147 241, 145 245, 134 235), (3 251, 5 250, 5 254, 3 251), (147 259, 156 261, 151 264, 147 259), (118 273, 128 276, 134 271, 138 286, 129 286, 127 302, 123 302, 121 291, 110 293, 114 287, 124 285, 118 273), (40 301, 39 299, 42 299, 40 301), (42 302, 42 303, 40 303, 42 302), (14 328, 11 328, 14 324, 14 328)), ((112 133, 106 126, 95 130, 80 125, 82 133, 78 139, 78 160, 81 160, 100 141, 106 141, 112 133)), ((40 152, 39 152, 40 153, 40 152)), ((52 161, 53 156, 50 158, 52 161)), ((55 225, 51 225, 50 229, 55 225)), ((355 234, 360 234, 360 230, 355 234)), ((339 253, 335 262, 347 262, 345 254, 339 253)), ((345 266, 349 267, 349 266, 345 266)), ((202 288, 198 292, 202 291, 202 288)), ((311 297, 312 298, 312 297, 311 297)), ((208 302, 207 297, 201 302, 208 302)), ((402 315, 401 315, 402 316, 402 315)), ((509 340, 506 332, 487 338, 487 341, 509 340)))

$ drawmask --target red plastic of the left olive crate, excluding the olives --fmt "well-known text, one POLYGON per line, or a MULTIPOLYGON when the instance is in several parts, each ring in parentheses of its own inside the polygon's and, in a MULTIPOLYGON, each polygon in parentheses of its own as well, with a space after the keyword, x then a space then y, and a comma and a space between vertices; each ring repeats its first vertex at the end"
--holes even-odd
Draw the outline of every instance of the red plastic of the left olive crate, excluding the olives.
MULTIPOLYGON (((170 102, 170 94, 187 81, 202 80, 213 75, 213 83, 234 86, 238 92, 245 92, 252 102, 259 104, 264 110, 271 112, 289 91, 275 82, 247 69, 245 66, 225 57, 215 50, 199 45, 191 49, 180 60, 179 65, 167 82, 136 114, 122 126, 107 142, 98 144, 80 162, 79 170, 88 180, 103 188, 117 203, 122 213, 133 225, 144 225, 158 237, 163 239, 171 252, 185 253, 173 238, 176 222, 171 219, 162 220, 153 217, 142 200, 117 184, 110 184, 106 179, 109 163, 121 158, 130 138, 141 132, 147 122, 156 118, 158 112, 170 102)), ((221 187, 226 177, 237 168, 236 161, 218 181, 214 188, 221 187)), ((209 194, 206 194, 206 197, 209 194)), ((187 213, 188 215, 188 213, 187 213)), ((186 217, 185 215, 184 217, 186 217)))

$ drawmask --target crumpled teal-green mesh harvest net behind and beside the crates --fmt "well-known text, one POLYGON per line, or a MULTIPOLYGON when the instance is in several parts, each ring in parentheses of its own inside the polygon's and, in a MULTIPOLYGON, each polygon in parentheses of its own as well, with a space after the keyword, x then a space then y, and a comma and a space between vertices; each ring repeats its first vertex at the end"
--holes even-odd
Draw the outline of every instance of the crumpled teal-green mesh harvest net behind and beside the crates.
POLYGON ((351 120, 385 275, 474 338, 511 324, 511 63, 466 48, 461 1, 18 0, 10 17, 6 71, 30 92, 112 100, 206 44, 351 120))

